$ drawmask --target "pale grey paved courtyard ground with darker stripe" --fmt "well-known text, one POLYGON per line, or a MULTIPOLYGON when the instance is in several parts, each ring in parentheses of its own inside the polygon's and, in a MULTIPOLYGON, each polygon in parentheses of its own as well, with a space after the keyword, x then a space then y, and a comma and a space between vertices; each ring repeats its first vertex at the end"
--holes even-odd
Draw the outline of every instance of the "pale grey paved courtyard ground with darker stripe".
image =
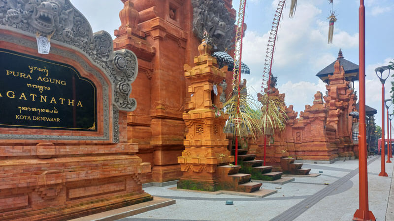
MULTIPOLYGON (((380 177, 380 159, 368 158, 369 208, 377 221, 394 221, 394 163, 386 164, 389 177, 380 177)), ((174 190, 176 184, 145 187, 145 192, 156 198, 175 199, 176 203, 121 220, 349 221, 359 207, 358 166, 357 160, 304 164, 312 169, 311 173, 320 175, 293 176, 294 181, 282 185, 263 183, 263 189, 277 191, 263 198, 174 190), (232 200, 233 205, 226 205, 227 200, 232 200)), ((109 211, 78 220, 116 220, 121 213, 123 217, 127 214, 109 211)))

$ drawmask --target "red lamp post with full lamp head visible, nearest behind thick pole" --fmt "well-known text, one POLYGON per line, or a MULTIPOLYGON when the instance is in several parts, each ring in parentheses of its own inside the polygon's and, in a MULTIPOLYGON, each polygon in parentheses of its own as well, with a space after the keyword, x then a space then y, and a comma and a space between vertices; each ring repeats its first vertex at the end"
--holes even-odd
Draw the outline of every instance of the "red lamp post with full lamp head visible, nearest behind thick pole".
POLYGON ((382 67, 376 68, 375 72, 376 72, 376 76, 378 76, 380 82, 382 83, 382 146, 380 148, 381 155, 382 155, 382 160, 381 160, 382 168, 379 173, 379 176, 389 176, 386 173, 386 165, 385 165, 385 104, 384 104, 384 101, 385 101, 385 82, 386 82, 387 78, 389 78, 389 76, 390 76, 390 69, 389 69, 389 66, 382 66, 382 67), (389 70, 389 73, 387 74, 387 77, 384 77, 383 73, 386 70, 389 70))

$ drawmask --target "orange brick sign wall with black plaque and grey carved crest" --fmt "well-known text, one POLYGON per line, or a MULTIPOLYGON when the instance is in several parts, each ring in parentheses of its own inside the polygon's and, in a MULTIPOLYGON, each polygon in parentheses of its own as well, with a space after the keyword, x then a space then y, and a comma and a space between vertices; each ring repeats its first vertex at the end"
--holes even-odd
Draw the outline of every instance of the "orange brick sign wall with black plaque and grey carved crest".
POLYGON ((68 220, 152 200, 128 143, 137 58, 69 0, 0 0, 0 219, 68 220), (37 53, 36 35, 50 39, 37 53))

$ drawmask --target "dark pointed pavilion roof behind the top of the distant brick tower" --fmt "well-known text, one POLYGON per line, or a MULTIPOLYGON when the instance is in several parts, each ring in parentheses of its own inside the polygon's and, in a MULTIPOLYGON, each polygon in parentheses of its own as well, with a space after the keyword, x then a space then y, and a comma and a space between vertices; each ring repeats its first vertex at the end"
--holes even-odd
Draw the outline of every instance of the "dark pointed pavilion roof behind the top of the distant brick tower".
MULTIPOLYGON (((345 78, 347 81, 359 80, 359 65, 346 60, 343 57, 341 49, 339 49, 338 58, 336 60, 339 60, 340 65, 343 66, 343 69, 345 70, 345 78)), ((336 60, 317 73, 316 76, 322 79, 323 82, 327 83, 328 75, 334 74, 334 64, 336 60)))

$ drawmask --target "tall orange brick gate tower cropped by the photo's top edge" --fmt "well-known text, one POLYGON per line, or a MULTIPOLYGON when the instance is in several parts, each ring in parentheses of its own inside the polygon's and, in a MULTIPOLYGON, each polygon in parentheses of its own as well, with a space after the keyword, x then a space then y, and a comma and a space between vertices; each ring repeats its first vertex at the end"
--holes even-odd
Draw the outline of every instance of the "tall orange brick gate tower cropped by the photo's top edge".
MULTIPOLYGON (((183 66, 194 65, 204 27, 211 27, 209 34, 219 47, 216 50, 230 48, 235 10, 231 0, 215 0, 212 8, 198 0, 122 1, 122 25, 115 30, 114 48, 133 51, 139 73, 131 92, 139 102, 128 114, 129 142, 138 143, 137 155, 152 165, 146 182, 177 180, 182 176, 177 157, 185 149, 182 114, 190 99, 183 66), (200 17, 205 10, 212 11, 209 19, 200 17), (214 18, 218 22, 210 23, 214 18)), ((231 82, 231 72, 225 78, 231 82)), ((224 91, 230 92, 230 87, 224 91)))

